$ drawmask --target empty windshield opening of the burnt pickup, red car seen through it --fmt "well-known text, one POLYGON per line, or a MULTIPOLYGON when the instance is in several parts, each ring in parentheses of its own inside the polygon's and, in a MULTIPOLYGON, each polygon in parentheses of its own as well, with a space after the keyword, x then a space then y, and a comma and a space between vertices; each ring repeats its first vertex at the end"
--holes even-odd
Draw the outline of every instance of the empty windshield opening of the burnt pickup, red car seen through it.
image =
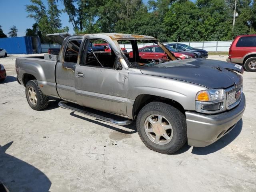
POLYGON ((118 44, 130 68, 153 66, 176 60, 172 52, 157 40, 118 40, 118 44))

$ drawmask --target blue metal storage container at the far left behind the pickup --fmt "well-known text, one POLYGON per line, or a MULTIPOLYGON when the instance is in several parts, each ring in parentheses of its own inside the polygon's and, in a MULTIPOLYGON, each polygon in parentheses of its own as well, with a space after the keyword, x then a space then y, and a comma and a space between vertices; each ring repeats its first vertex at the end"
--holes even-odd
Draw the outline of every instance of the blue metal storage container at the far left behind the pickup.
POLYGON ((7 54, 33 54, 32 37, 0 38, 0 48, 7 54))

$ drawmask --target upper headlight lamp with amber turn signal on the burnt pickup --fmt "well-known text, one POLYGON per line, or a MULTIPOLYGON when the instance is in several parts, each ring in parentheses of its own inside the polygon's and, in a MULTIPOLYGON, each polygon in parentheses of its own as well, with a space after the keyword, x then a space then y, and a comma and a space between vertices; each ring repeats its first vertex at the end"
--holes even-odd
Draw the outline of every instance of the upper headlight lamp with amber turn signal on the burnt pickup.
POLYGON ((196 94, 197 101, 216 101, 225 98, 224 89, 203 90, 196 94))

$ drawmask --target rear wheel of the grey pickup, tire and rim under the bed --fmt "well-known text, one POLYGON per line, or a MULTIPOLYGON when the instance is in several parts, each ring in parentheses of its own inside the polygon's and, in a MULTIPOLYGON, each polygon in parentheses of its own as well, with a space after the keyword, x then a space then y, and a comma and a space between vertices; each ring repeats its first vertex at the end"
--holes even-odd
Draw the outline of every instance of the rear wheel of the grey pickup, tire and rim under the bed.
POLYGON ((26 98, 29 106, 37 111, 48 107, 49 98, 40 90, 37 80, 31 80, 26 84, 26 98))

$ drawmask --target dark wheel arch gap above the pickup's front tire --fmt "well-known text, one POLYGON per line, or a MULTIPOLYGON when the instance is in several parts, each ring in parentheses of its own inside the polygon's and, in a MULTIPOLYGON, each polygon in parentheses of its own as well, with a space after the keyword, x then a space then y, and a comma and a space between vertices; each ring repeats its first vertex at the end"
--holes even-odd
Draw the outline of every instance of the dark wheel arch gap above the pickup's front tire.
POLYGON ((177 108, 178 110, 180 110, 180 112, 182 112, 183 114, 185 114, 184 107, 179 102, 173 99, 164 98, 156 95, 150 95, 150 94, 141 94, 141 95, 138 95, 134 100, 133 107, 132 107, 133 118, 136 119, 140 110, 150 102, 163 102, 163 103, 169 104, 177 108))

